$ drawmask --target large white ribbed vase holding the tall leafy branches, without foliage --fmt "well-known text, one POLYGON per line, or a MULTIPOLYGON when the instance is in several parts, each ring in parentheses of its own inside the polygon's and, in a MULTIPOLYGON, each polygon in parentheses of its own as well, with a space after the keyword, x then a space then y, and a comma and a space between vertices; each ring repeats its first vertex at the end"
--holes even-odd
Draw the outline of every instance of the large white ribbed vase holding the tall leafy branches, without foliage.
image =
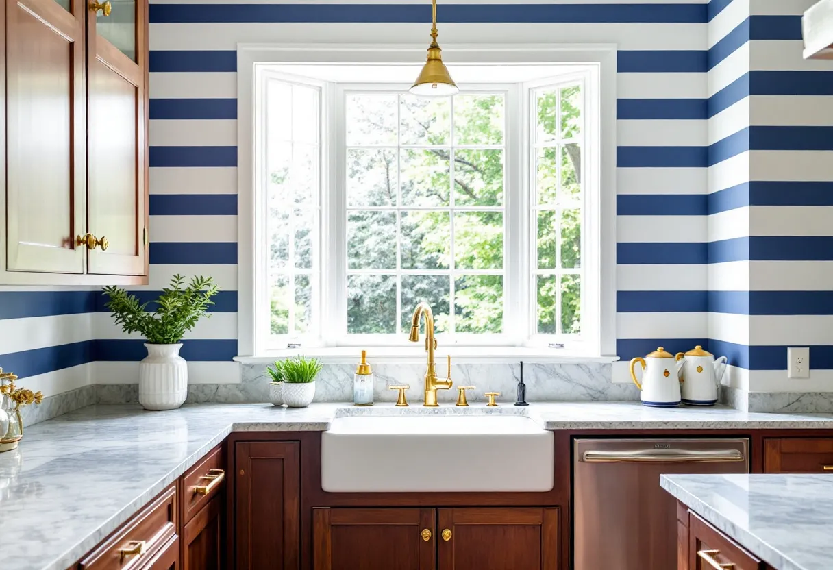
POLYGON ((139 403, 146 410, 173 410, 188 396, 188 365, 179 356, 182 344, 145 344, 139 363, 139 403))

